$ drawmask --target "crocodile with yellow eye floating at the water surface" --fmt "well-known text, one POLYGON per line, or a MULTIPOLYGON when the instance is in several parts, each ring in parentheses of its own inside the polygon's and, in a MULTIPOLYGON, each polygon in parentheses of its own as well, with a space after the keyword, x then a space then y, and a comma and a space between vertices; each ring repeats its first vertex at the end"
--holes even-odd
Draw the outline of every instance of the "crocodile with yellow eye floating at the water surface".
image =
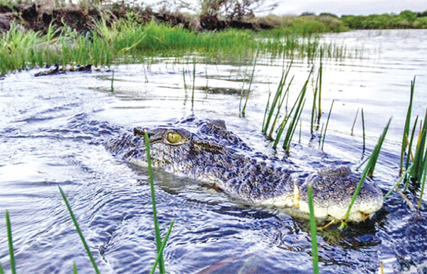
MULTIPOLYGON (((107 148, 130 163, 147 166, 143 130, 136 127, 107 143, 107 148)), ((307 215, 311 184, 317 219, 344 219, 360 180, 347 165, 307 172, 289 160, 267 157, 228 131, 223 120, 190 118, 152 128, 148 136, 154 168, 190 177, 246 204, 295 209, 307 215)), ((381 190, 367 178, 347 220, 364 221, 382 204, 381 190)))

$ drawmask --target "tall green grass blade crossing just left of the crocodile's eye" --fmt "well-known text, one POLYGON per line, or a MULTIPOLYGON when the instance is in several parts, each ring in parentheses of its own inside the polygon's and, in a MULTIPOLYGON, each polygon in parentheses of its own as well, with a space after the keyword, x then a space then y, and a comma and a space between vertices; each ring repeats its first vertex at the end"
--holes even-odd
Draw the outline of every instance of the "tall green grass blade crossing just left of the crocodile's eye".
MULTIPOLYGON (((162 247, 162 238, 160 236, 159 222, 157 221, 156 199, 154 196, 153 170, 152 170, 152 165, 151 165, 151 156, 149 154, 149 137, 148 137, 147 128, 144 128, 144 139, 145 139, 145 148, 147 150, 148 179, 149 179, 149 187, 151 190, 151 197, 152 197, 154 231, 156 233, 157 253, 159 253, 160 248, 162 247)), ((160 258, 159 258, 159 271, 160 271, 160 273, 165 273, 164 260, 163 260, 162 253, 160 253, 160 258)))

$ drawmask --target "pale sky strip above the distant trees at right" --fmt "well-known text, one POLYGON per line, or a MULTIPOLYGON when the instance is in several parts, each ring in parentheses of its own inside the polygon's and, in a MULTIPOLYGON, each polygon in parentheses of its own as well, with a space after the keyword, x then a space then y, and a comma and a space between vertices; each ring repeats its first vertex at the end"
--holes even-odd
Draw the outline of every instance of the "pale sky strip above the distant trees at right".
POLYGON ((329 12, 342 16, 344 14, 369 15, 400 13, 404 10, 427 10, 427 0, 278 0, 278 5, 273 13, 280 15, 299 15, 305 11, 316 14, 329 12))

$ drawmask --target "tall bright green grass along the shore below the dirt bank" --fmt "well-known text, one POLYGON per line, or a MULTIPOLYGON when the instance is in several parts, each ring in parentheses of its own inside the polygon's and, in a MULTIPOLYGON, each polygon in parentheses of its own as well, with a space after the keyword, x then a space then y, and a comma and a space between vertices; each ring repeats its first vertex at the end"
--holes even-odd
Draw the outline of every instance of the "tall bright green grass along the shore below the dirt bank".
POLYGON ((140 24, 132 18, 120 19, 111 25, 100 20, 86 35, 68 26, 53 25, 42 35, 14 23, 0 36, 0 48, 0 75, 56 63, 99 66, 110 65, 114 60, 139 62, 144 56, 152 55, 199 53, 221 62, 246 62, 247 57, 257 52, 271 57, 300 56, 310 60, 320 55, 320 43, 315 38, 236 29, 196 33, 153 21, 140 24))

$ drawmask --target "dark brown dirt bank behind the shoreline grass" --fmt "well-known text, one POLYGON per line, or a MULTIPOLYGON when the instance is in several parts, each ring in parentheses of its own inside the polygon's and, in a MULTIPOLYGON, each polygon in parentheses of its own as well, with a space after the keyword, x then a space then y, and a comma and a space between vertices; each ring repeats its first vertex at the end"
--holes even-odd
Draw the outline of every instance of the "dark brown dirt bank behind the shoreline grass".
POLYGON ((181 13, 153 12, 150 9, 129 8, 126 6, 105 6, 97 9, 82 9, 79 6, 49 9, 33 4, 31 6, 4 6, 0 4, 0 31, 8 31, 11 23, 33 31, 46 33, 53 24, 60 29, 69 26, 79 33, 85 33, 95 27, 95 22, 105 19, 107 24, 119 18, 127 18, 127 13, 132 11, 135 20, 139 23, 157 21, 168 23, 172 26, 181 26, 194 31, 222 30, 224 28, 265 29, 273 28, 268 23, 254 23, 253 21, 220 20, 216 16, 200 16, 189 18, 181 13))

